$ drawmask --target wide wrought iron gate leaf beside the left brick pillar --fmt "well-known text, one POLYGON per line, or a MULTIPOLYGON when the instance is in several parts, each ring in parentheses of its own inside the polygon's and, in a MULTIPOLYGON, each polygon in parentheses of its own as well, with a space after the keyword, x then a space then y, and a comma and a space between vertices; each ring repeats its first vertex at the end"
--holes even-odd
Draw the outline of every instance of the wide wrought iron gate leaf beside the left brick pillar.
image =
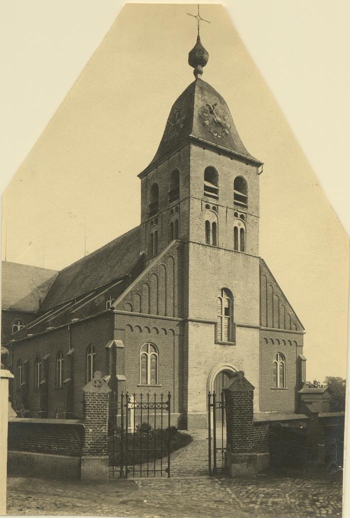
POLYGON ((170 401, 164 395, 112 392, 108 456, 112 477, 170 477, 170 401))

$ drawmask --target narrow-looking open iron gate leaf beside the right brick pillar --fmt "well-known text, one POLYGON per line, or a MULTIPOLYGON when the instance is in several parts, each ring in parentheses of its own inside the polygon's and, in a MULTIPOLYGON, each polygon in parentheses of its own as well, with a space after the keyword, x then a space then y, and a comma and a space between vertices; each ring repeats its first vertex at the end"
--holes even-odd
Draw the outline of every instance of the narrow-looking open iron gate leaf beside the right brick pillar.
POLYGON ((226 402, 224 392, 208 394, 208 464, 209 475, 224 473, 226 452, 226 402))

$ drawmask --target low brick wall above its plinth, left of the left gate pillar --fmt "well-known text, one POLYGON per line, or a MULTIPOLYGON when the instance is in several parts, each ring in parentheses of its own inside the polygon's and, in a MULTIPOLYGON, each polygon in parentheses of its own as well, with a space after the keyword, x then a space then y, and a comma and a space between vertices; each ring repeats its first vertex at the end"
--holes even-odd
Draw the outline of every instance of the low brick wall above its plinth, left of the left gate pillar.
POLYGON ((9 450, 75 457, 81 455, 83 437, 82 423, 72 421, 15 419, 8 423, 9 450))

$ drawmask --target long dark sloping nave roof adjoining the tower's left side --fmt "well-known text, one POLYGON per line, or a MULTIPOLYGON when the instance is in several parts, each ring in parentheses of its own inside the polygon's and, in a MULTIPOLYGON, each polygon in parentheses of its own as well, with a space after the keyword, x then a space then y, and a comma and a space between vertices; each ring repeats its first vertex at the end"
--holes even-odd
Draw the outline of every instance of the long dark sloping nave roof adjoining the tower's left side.
POLYGON ((41 305, 46 311, 126 275, 140 257, 137 226, 59 272, 41 305))

